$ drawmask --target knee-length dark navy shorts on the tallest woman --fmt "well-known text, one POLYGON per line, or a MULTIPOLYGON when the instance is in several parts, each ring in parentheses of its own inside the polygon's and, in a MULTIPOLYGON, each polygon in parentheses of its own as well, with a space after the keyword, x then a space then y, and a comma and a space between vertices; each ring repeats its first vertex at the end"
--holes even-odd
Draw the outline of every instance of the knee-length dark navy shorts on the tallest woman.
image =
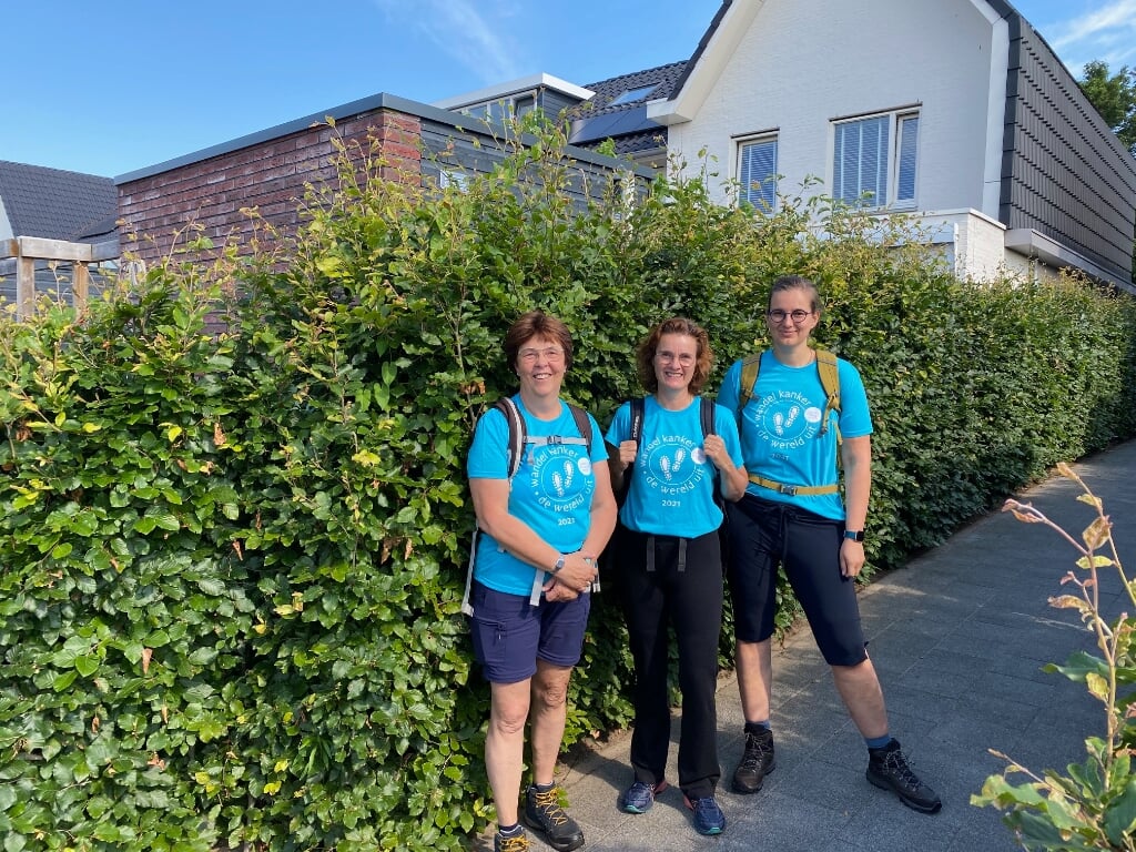
POLYGON ((763 642, 774 635, 783 567, 825 661, 855 666, 868 659, 855 579, 841 574, 843 521, 752 494, 727 503, 726 511, 735 638, 763 642))

